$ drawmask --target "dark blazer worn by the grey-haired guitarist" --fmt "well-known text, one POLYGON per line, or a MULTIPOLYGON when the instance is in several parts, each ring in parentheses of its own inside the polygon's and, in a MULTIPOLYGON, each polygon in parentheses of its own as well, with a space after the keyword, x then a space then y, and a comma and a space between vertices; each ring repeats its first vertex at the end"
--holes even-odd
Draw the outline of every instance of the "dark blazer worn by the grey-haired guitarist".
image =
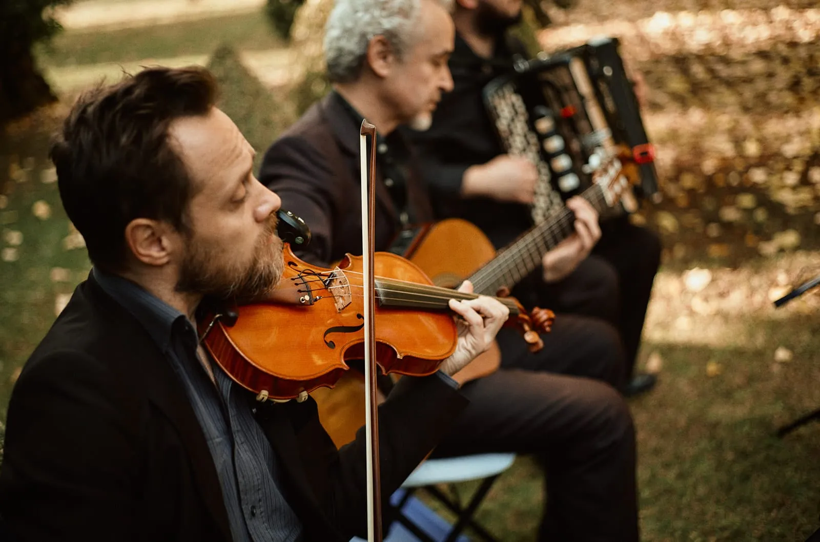
MULTIPOLYGON (((312 263, 338 262, 362 253, 359 130, 336 93, 310 109, 267 149, 259 180, 301 216, 312 232, 306 253, 312 263)), ((398 133, 395 136, 400 136, 398 133)), ((419 222, 433 219, 426 184, 408 171, 408 207, 419 222)), ((387 250, 399 217, 381 172, 376 171, 376 250, 387 250)))

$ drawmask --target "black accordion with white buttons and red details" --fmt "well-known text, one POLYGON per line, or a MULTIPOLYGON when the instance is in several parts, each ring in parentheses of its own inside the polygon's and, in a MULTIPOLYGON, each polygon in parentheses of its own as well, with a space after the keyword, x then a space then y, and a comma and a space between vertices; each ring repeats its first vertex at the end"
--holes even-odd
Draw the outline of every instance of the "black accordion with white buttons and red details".
MULTIPOLYGON (((535 223, 588 188, 613 155, 626 157, 635 195, 657 199, 654 147, 646 136, 635 92, 624 71, 618 41, 597 39, 581 47, 526 61, 483 90, 490 120, 509 154, 528 157, 538 170, 535 223)), ((623 207, 634 210, 634 198, 623 207)))

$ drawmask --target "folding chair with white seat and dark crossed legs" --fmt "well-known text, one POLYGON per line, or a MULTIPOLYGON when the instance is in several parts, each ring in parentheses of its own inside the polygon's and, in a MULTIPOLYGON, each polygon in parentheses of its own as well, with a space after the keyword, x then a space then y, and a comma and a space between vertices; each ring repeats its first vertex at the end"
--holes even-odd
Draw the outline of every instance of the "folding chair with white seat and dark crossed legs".
POLYGON ((399 499, 396 505, 396 517, 408 531, 412 532, 421 542, 456 542, 462 531, 470 526, 476 535, 479 535, 482 540, 486 542, 497 542, 497 539, 484 527, 478 525, 473 521, 472 516, 485 498, 485 495, 490 491, 495 480, 506 471, 515 461, 514 453, 482 453, 477 455, 467 455, 457 458, 441 458, 428 459, 421 463, 408 479, 404 481, 402 488, 404 494, 399 499), (458 494, 453 491, 454 497, 450 497, 439 488, 435 487, 439 484, 455 484, 456 482, 482 480, 481 485, 475 493, 472 494, 470 500, 466 505, 462 504, 458 494), (412 519, 406 515, 403 510, 408 500, 417 490, 425 490, 427 494, 432 495, 444 507, 453 512, 457 520, 455 524, 447 533, 446 538, 435 539, 428 533, 422 531, 412 519))

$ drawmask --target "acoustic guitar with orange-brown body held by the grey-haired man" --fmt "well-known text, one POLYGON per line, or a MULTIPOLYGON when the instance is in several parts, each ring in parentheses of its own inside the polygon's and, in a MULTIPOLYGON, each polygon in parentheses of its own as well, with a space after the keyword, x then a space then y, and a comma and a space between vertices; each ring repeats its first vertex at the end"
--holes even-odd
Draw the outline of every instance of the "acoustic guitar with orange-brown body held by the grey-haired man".
MULTIPOLYGON (((617 157, 606 162, 594 179, 581 197, 599 213, 612 208, 630 187, 617 157)), ((476 225, 458 218, 403 230, 394 246, 403 247, 398 252, 421 267, 435 285, 456 288, 467 279, 477 294, 503 297, 540 266, 545 253, 572 235, 574 221, 572 211, 564 208, 498 252, 476 225)), ((488 376, 500 365, 501 350, 494 341, 455 377, 464 383, 488 376)), ((321 424, 337 447, 354 440, 364 420, 364 380, 356 371, 349 372, 334 389, 319 388, 311 394, 321 424)))

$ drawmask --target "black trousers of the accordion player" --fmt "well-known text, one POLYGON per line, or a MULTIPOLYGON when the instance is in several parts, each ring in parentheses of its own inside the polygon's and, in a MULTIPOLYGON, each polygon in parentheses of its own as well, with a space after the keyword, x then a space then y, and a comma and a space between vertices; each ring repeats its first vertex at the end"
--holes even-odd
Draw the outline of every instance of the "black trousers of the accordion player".
POLYGON ((631 380, 640 348, 646 307, 658 272, 661 243, 654 232, 626 216, 601 224, 590 257, 564 280, 545 284, 535 271, 513 294, 526 305, 601 318, 615 326, 626 353, 625 382, 631 380))

